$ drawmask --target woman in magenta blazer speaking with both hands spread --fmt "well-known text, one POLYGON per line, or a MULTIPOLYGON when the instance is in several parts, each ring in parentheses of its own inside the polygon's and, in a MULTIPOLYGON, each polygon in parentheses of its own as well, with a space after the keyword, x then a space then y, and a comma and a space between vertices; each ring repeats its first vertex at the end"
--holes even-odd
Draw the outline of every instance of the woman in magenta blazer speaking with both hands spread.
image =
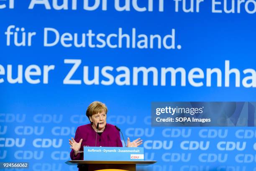
MULTIPOLYGON (((86 116, 91 123, 79 126, 75 137, 69 140, 72 160, 84 159, 84 155, 79 153, 84 150, 84 146, 123 147, 119 130, 114 125, 107 123, 107 112, 108 108, 102 102, 95 101, 87 107, 86 116)), ((133 142, 127 138, 127 147, 138 147, 141 144, 140 138, 133 142)))

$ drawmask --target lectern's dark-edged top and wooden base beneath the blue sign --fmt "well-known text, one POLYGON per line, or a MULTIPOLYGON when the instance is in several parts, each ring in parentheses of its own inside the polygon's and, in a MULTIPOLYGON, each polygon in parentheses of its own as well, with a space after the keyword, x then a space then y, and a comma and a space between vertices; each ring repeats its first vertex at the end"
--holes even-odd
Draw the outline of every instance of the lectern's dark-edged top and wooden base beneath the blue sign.
MULTIPOLYGON (((71 160, 66 162, 68 165, 77 165, 80 170, 88 171, 104 171, 104 169, 120 169, 120 171, 136 171, 136 165, 150 165, 156 161, 84 161, 84 160, 71 160)), ((110 170, 108 170, 110 171, 110 170)), ((118 170, 116 170, 118 171, 118 170)))

